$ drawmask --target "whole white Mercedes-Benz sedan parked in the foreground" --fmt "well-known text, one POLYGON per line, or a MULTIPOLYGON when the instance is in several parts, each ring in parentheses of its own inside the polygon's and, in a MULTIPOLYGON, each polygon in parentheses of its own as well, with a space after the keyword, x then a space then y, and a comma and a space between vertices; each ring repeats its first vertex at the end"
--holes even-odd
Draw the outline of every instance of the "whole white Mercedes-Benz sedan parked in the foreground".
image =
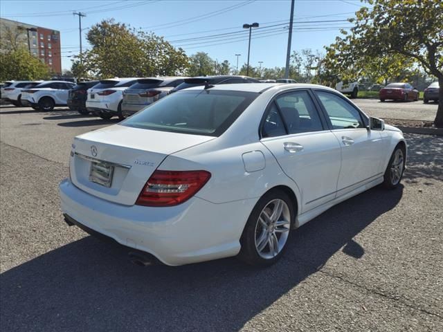
POLYGON ((311 84, 196 86, 73 141, 66 223, 141 265, 279 259, 293 230, 370 187, 395 188, 401 131, 311 84))

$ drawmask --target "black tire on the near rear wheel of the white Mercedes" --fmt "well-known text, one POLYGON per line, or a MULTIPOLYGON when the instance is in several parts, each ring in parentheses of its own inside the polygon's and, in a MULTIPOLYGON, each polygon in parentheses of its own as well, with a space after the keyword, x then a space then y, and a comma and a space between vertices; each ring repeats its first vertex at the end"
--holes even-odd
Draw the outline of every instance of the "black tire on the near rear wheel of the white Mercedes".
MULTIPOLYGON (((284 251, 287 248, 287 243, 291 239, 291 230, 293 228, 295 216, 296 216, 296 209, 294 208, 293 201, 289 198, 289 196, 285 192, 283 192, 282 190, 271 190, 266 194, 264 194, 262 198, 257 202, 257 204, 255 204, 255 207, 253 208, 251 215, 248 218, 248 221, 246 221, 242 237, 240 238, 240 245, 242 246, 242 248, 240 249, 238 258, 244 261, 246 264, 253 266, 269 266, 271 264, 274 264, 276 261, 278 261, 278 259, 282 257, 284 251), (280 249, 280 252, 278 252, 277 255, 269 258, 264 258, 257 251, 257 247, 255 245, 256 241, 255 238, 257 236, 258 227, 260 226, 262 228, 263 235, 266 236, 267 235, 266 232, 268 232, 267 230, 265 230, 265 228, 262 227, 262 223, 260 223, 259 221, 259 216, 260 214, 262 214, 265 208, 267 208, 270 204, 272 205, 272 201, 275 200, 281 200, 284 203, 286 203, 286 207, 283 209, 282 213, 280 214, 279 219, 281 216, 284 215, 284 213, 289 214, 288 218, 285 217, 285 219, 289 219, 289 229, 286 232, 273 233, 273 234, 280 234, 280 237, 278 238, 276 237, 278 241, 282 239, 282 236, 284 236, 284 234, 287 234, 286 241, 282 243, 282 248, 280 249)), ((268 239, 270 239, 270 236, 268 237, 268 239)), ((262 250, 265 250, 266 248, 271 250, 268 243, 269 241, 266 240, 266 244, 262 250)))

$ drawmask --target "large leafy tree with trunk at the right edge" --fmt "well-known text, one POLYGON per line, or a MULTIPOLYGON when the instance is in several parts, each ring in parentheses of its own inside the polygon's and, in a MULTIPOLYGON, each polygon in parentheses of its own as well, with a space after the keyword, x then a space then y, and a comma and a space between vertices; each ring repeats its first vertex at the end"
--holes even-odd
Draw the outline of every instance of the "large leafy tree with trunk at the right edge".
MULTIPOLYGON (((434 124, 443 127, 443 1, 363 0, 373 5, 356 12, 350 33, 337 37, 328 52, 342 68, 352 68, 356 59, 417 62, 440 84, 434 124)), ((342 33, 345 33, 342 31, 342 33)))

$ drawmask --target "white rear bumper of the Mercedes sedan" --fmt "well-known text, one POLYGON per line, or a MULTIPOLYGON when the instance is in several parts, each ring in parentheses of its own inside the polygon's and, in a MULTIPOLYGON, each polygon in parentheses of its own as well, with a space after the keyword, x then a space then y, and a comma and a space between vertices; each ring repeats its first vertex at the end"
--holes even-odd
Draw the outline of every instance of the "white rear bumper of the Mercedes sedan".
POLYGON ((244 224, 256 203, 214 204, 193 197, 174 207, 150 208, 99 199, 69 179, 60 183, 59 190, 64 214, 170 266, 237 255, 244 224))

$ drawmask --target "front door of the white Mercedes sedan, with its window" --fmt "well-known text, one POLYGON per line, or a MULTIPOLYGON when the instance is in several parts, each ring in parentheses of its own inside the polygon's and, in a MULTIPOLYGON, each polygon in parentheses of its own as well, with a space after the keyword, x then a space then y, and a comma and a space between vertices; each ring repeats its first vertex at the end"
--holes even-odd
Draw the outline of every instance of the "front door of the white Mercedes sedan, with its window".
POLYGON ((368 118, 348 100, 334 92, 315 91, 332 133, 341 145, 338 196, 381 176, 384 154, 379 131, 371 131, 368 118))

